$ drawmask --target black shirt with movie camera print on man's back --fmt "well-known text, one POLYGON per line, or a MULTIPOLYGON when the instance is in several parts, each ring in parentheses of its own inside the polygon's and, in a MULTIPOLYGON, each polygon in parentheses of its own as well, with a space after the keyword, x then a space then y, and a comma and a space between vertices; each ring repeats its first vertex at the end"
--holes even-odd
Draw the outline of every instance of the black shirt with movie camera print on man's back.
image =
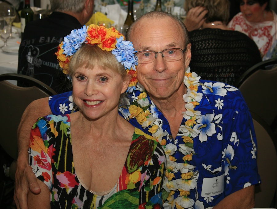
POLYGON ((28 23, 19 47, 18 73, 44 82, 57 93, 67 91, 67 78, 55 52, 71 30, 81 27, 76 18, 61 12, 28 23))

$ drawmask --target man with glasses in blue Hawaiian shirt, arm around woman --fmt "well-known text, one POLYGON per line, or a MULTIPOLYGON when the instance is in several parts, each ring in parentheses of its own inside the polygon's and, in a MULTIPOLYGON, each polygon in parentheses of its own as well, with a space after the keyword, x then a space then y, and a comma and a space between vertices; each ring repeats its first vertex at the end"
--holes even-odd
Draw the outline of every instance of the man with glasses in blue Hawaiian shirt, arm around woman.
MULTIPOLYGON (((170 14, 155 11, 144 15, 130 26, 126 38, 138 51, 139 83, 128 89, 119 111, 164 148, 163 207, 254 207, 254 187, 260 183, 257 143, 239 90, 200 80, 190 72, 187 29, 170 14)), ((31 103, 19 126, 16 195, 21 202, 29 189, 26 185, 35 193, 40 190, 28 168, 29 130, 22 130, 22 125, 31 127, 41 115, 77 109, 71 92, 50 97, 50 107, 47 102, 48 98, 43 98, 31 103)))

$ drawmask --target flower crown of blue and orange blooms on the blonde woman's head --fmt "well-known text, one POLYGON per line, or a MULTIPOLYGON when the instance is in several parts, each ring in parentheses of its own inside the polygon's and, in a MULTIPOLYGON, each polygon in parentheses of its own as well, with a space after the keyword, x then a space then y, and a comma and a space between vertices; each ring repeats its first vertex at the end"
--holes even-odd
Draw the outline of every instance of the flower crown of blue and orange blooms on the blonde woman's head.
POLYGON ((55 53, 60 67, 64 74, 69 72, 69 63, 72 55, 80 49, 83 43, 97 45, 102 50, 111 51, 117 61, 121 63, 128 74, 131 75, 130 86, 135 86, 138 82, 136 66, 138 65, 135 53, 137 52, 132 42, 126 41, 124 36, 115 30, 114 27, 106 28, 91 24, 80 29, 74 29, 64 37, 64 41, 58 46, 55 53))

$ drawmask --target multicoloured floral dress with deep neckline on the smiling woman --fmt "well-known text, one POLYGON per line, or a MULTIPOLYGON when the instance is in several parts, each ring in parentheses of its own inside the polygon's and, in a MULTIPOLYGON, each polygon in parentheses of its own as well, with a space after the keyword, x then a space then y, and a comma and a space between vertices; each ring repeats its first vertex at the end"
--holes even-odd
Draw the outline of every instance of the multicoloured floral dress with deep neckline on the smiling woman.
POLYGON ((161 145, 135 128, 125 166, 107 195, 94 195, 74 169, 69 115, 48 115, 31 130, 29 162, 50 189, 51 208, 161 208, 166 159, 161 145))

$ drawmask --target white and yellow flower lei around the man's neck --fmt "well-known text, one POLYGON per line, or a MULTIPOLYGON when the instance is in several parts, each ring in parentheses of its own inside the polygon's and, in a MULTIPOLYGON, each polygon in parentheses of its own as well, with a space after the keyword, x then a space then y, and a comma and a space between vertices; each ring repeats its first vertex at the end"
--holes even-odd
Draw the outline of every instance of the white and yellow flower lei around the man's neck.
POLYGON ((202 100, 203 94, 197 93, 200 77, 190 72, 188 69, 185 73, 184 84, 187 86, 187 94, 183 95, 185 107, 187 111, 183 112, 183 117, 187 119, 184 125, 181 125, 179 134, 182 133, 183 144, 179 144, 179 152, 183 154, 184 163, 175 163, 176 159, 172 155, 177 151, 176 143, 178 140, 172 141, 172 137, 169 136, 167 131, 162 129, 163 121, 158 118, 158 111, 155 104, 147 98, 147 92, 138 83, 136 88, 142 93, 138 97, 135 97, 133 93, 133 103, 130 104, 129 114, 124 115, 124 108, 119 108, 119 111, 129 119, 135 118, 142 127, 148 128, 148 131, 152 133, 152 136, 159 141, 162 145, 166 158, 167 158, 167 169, 166 177, 163 183, 163 204, 164 208, 189 208, 195 202, 189 198, 190 190, 196 187, 196 180, 198 179, 198 171, 193 171, 195 166, 190 165, 189 161, 192 160, 192 155, 195 154, 193 149, 193 138, 197 137, 200 133, 197 128, 194 128, 196 120, 200 118, 201 112, 194 110, 202 100), (152 114, 151 114, 152 112, 152 114), (166 139, 165 139, 166 136, 166 139), (163 139, 164 137, 164 139, 163 139), (166 143, 169 140, 171 143, 166 143), (175 173, 180 171, 181 179, 172 180, 175 178, 175 173), (174 198, 175 191, 179 191, 180 195, 174 198), (166 201, 168 200, 168 201, 166 201))

